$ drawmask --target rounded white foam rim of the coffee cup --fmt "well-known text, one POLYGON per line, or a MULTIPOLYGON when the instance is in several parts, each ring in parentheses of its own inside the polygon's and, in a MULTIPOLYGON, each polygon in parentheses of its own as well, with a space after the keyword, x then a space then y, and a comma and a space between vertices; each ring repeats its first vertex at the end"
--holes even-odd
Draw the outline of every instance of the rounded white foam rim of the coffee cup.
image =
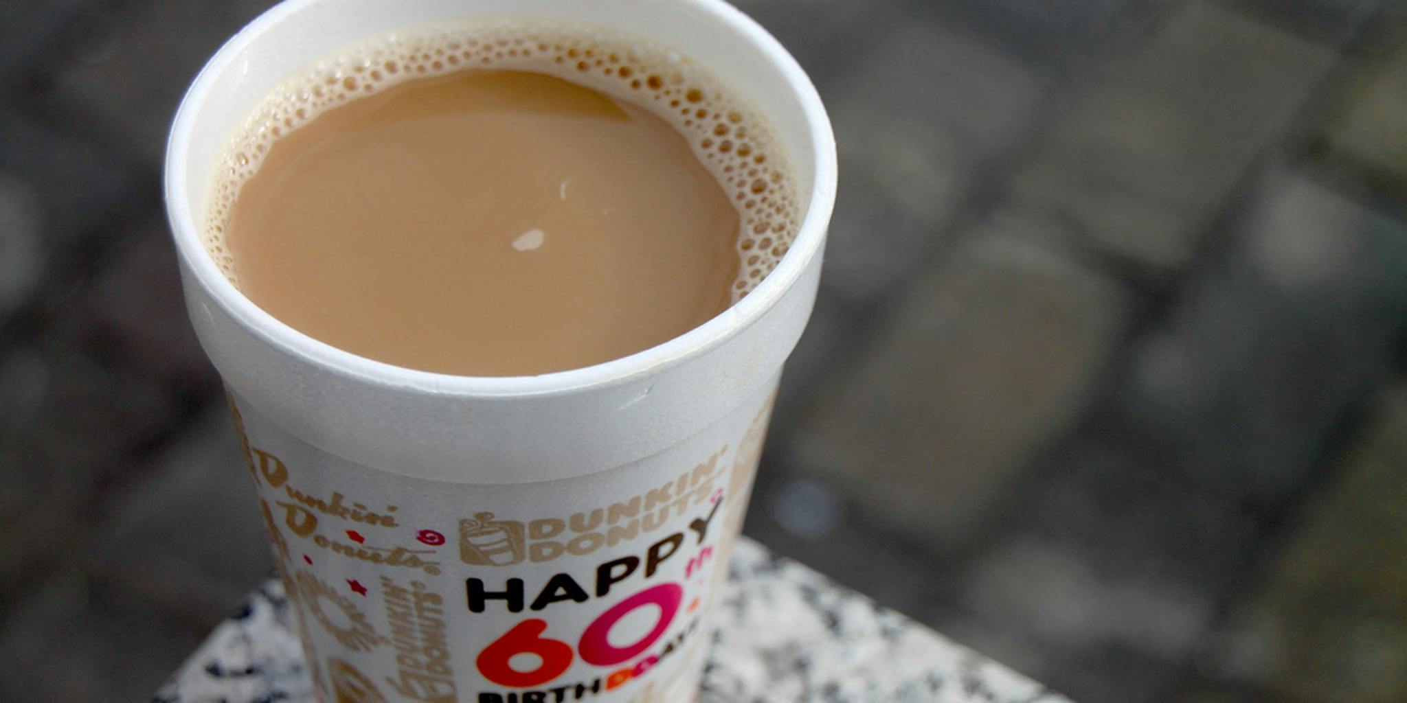
MULTIPOLYGON (((187 146, 194 136, 196 117, 211 94, 215 77, 229 70, 242 49, 256 41, 267 27, 317 1, 286 0, 272 7, 231 37, 211 56, 176 110, 163 169, 166 214, 176 239, 177 254, 193 274, 196 284, 201 285, 241 328, 283 354, 363 384, 435 395, 542 396, 609 387, 663 371, 720 346, 763 318, 801 278, 809 262, 820 256, 834 209, 837 163, 834 135, 819 93, 795 58, 767 30, 736 7, 723 0, 674 0, 704 8, 758 46, 795 91, 805 118, 803 128, 809 135, 813 162, 806 212, 788 252, 750 294, 708 322, 653 347, 592 366, 539 375, 490 377, 421 371, 345 352, 294 329, 239 292, 205 250, 191 208, 191 193, 187 188, 187 146)), ((788 156, 796 157, 796 155, 788 156)))

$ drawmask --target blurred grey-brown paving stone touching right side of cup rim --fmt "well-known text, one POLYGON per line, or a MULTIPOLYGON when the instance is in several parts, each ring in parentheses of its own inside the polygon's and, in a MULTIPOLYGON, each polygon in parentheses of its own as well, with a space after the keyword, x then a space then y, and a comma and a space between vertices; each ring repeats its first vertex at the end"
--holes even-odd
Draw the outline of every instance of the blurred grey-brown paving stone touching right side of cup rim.
POLYGON ((830 96, 843 183, 826 285, 853 305, 875 301, 933 256, 1041 93, 1026 66, 926 21, 896 30, 862 60, 830 96))

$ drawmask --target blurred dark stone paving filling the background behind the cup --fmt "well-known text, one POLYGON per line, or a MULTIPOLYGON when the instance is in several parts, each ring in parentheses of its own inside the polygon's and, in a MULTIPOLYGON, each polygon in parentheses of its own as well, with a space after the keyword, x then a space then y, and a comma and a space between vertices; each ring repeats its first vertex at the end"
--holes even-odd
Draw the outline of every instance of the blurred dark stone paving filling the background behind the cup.
MULTIPOLYGON (((1407 3, 739 4, 841 153, 747 531, 1083 703, 1407 700, 1407 3)), ((266 6, 0 3, 0 703, 270 568, 159 184, 266 6)))

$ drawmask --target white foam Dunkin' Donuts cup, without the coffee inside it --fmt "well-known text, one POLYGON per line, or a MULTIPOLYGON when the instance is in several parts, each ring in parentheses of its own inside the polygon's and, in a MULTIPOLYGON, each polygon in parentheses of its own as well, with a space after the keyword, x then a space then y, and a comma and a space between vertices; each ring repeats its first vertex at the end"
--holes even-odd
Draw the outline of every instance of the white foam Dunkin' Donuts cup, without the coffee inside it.
POLYGON ((834 202, 829 121, 775 39, 719 0, 294 0, 196 79, 165 176, 190 318, 229 392, 319 700, 694 697, 834 202), (649 37, 765 115, 802 201, 777 269, 664 344, 536 377, 381 364, 242 297, 200 222, 243 115, 350 42, 504 14, 649 37))

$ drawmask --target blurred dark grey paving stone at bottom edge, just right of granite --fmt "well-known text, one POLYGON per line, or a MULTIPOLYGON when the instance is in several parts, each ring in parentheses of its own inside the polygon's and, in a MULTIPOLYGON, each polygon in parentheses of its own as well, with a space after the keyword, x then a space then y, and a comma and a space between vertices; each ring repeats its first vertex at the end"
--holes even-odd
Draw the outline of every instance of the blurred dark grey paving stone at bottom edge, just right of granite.
POLYGON ((1096 411, 988 526, 951 627, 1083 702, 1161 702, 1238 588, 1261 523, 1096 411))

